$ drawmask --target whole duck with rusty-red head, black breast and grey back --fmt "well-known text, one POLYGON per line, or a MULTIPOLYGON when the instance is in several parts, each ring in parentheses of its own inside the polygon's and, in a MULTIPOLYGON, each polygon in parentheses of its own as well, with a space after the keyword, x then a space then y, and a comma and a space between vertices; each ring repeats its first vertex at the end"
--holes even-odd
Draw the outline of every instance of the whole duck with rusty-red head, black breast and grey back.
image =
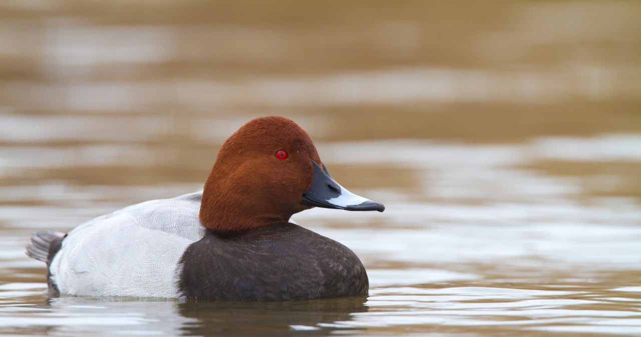
POLYGON ((224 141, 201 191, 131 205, 68 233, 37 231, 50 297, 304 301, 366 296, 363 263, 292 215, 313 207, 383 212, 338 184, 312 139, 281 116, 224 141))

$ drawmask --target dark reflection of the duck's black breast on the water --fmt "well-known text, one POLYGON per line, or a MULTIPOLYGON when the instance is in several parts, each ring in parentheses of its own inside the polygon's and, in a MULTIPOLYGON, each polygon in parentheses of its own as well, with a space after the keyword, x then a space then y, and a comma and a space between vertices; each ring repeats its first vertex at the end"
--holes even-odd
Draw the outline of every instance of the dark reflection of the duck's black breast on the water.
POLYGON ((187 300, 179 304, 179 313, 197 319, 183 324, 185 334, 192 336, 300 336, 303 332, 296 329, 315 329, 304 331, 304 336, 326 336, 353 329, 335 322, 349 321, 351 313, 367 311, 365 301, 365 296, 296 302, 187 300))

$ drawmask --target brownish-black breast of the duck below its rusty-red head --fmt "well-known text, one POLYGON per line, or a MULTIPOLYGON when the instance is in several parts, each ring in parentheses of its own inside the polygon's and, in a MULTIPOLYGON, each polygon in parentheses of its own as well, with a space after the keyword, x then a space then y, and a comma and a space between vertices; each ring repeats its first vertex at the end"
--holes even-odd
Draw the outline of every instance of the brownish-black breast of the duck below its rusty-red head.
POLYGON ((296 301, 367 295, 369 286, 353 251, 292 223, 231 237, 207 231, 180 265, 178 289, 185 297, 296 301))

